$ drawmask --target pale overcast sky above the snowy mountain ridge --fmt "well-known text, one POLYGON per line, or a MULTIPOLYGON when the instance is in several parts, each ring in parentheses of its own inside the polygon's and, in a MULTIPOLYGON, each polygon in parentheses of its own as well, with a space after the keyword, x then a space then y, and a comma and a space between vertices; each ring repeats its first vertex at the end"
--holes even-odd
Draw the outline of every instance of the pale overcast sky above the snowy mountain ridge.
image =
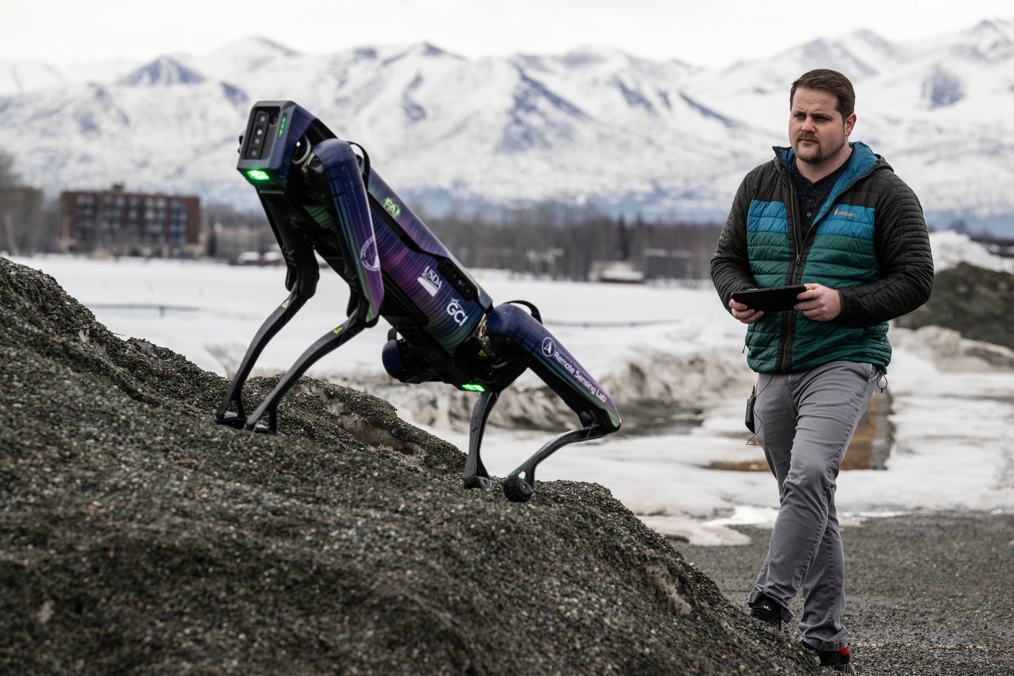
POLYGON ((610 45, 707 67, 870 28, 909 41, 1014 17, 1011 0, 0 0, 0 59, 200 55, 248 36, 301 52, 428 41, 463 56, 610 45))

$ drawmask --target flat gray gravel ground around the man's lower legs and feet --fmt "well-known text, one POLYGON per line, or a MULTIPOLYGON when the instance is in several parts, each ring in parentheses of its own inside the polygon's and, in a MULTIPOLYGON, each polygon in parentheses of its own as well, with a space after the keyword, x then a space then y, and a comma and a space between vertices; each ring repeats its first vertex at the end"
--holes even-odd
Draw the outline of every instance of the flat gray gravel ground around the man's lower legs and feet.
MULTIPOLYGON (((745 609, 771 531, 737 530, 751 544, 677 547, 745 609)), ((1014 674, 1014 515, 871 519, 842 539, 857 673, 1014 674)), ((800 606, 795 599, 797 616, 800 606)))

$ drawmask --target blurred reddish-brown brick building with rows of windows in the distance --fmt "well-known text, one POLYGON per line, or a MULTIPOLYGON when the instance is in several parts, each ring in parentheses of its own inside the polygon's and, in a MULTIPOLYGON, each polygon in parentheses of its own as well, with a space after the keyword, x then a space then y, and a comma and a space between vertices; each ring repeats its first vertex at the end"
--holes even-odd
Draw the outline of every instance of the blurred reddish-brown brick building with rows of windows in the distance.
POLYGON ((60 193, 60 249, 65 253, 197 258, 201 200, 112 190, 60 193))

